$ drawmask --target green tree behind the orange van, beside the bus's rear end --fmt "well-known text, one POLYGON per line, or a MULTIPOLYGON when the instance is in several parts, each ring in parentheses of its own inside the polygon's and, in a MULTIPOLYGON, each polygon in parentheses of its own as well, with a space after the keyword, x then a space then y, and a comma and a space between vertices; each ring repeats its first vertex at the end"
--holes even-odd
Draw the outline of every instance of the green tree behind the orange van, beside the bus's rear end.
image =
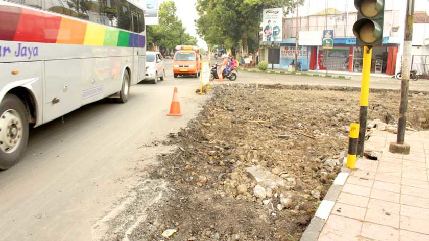
POLYGON ((176 45, 196 45, 197 39, 185 33, 183 23, 176 16, 176 5, 165 1, 159 6, 159 25, 147 26, 148 44, 174 49, 176 45))

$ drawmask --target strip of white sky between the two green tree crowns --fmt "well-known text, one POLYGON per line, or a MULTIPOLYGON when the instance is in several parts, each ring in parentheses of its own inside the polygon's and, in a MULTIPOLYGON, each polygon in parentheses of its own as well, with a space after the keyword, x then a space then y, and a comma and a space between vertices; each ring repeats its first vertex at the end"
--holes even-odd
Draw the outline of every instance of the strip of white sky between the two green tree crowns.
MULTIPOLYGON (((207 43, 202 40, 196 31, 196 27, 194 25, 194 20, 198 19, 198 13, 195 9, 196 0, 173 0, 176 4, 177 8, 177 16, 183 22, 183 27, 186 28, 186 32, 192 36, 195 36, 198 40, 198 46, 204 49, 207 48, 207 43)), ((159 2, 163 2, 163 0, 159 0, 159 2)))

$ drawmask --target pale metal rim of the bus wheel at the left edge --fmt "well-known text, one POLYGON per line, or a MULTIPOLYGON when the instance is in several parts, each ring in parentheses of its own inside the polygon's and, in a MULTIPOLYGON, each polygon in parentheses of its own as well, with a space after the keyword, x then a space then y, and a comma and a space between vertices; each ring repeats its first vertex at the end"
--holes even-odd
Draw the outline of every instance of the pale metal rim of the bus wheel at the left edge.
POLYGON ((0 149, 6 153, 14 152, 21 143, 22 120, 15 110, 7 110, 0 116, 0 149))

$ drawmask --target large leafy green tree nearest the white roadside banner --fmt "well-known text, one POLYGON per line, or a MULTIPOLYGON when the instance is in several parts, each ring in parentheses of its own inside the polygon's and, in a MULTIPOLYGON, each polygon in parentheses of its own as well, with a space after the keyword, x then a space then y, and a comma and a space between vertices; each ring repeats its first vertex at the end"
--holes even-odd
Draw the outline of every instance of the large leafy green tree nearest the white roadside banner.
POLYGON ((247 54, 249 47, 256 47, 255 36, 264 8, 284 8, 288 13, 302 3, 303 0, 197 0, 197 33, 209 45, 242 45, 247 54))

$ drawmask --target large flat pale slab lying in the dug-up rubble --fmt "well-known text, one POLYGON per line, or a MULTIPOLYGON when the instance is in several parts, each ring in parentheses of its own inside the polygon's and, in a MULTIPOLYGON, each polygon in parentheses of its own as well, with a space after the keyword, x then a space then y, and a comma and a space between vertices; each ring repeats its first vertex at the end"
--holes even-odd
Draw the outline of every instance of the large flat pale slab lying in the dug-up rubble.
POLYGON ((246 168, 246 172, 258 185, 266 188, 274 189, 286 184, 282 178, 260 165, 248 167, 246 168))

